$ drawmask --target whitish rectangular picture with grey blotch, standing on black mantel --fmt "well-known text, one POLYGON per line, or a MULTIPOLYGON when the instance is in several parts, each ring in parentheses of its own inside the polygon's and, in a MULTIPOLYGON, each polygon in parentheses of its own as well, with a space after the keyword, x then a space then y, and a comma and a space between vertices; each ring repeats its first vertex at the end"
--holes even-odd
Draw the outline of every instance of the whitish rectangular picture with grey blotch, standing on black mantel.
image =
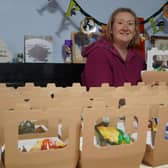
POLYGON ((24 37, 25 62, 30 63, 51 63, 53 62, 52 36, 24 37))

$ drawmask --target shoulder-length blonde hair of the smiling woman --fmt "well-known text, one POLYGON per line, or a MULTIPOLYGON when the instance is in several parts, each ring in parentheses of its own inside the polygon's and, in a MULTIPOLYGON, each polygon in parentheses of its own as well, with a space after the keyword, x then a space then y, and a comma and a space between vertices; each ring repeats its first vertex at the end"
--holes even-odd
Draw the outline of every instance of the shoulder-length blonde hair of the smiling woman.
POLYGON ((140 47, 140 33, 139 33, 138 24, 136 21, 137 16, 136 16, 135 12, 130 8, 118 8, 111 14, 109 21, 107 23, 107 29, 106 29, 107 39, 113 43, 113 34, 111 33, 111 29, 112 29, 112 26, 114 24, 114 21, 115 21, 117 14, 121 13, 121 12, 128 12, 135 18, 135 35, 134 35, 134 38, 130 41, 128 47, 129 48, 132 48, 135 46, 140 47))

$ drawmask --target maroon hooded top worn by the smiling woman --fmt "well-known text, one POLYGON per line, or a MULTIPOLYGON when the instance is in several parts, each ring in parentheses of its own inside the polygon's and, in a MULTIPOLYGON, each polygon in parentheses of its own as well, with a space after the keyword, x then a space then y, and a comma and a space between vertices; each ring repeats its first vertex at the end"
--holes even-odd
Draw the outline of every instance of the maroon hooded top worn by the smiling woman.
POLYGON ((146 68, 145 61, 138 49, 130 48, 124 61, 119 52, 105 38, 86 47, 82 56, 87 62, 82 72, 82 84, 87 88, 109 83, 110 86, 122 86, 124 82, 132 85, 141 81, 141 70, 146 68))

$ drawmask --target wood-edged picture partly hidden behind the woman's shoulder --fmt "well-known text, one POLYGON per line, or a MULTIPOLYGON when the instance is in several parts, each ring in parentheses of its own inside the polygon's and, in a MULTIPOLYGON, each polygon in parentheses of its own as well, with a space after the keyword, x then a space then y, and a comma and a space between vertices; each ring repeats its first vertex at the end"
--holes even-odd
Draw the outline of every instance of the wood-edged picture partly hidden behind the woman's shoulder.
POLYGON ((71 34, 72 39, 72 62, 73 63, 85 63, 86 58, 81 55, 83 47, 97 41, 100 38, 98 33, 85 34, 82 32, 73 32, 71 34))

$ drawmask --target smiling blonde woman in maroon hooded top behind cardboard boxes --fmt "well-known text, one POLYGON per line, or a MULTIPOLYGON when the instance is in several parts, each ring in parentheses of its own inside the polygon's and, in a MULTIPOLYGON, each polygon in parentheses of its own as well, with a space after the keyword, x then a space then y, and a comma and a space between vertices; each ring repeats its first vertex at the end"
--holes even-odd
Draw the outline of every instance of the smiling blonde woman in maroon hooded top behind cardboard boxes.
POLYGON ((115 10, 107 24, 106 35, 82 51, 87 57, 82 84, 87 88, 102 83, 110 86, 122 86, 124 82, 137 84, 146 67, 138 45, 136 14, 129 8, 115 10))

